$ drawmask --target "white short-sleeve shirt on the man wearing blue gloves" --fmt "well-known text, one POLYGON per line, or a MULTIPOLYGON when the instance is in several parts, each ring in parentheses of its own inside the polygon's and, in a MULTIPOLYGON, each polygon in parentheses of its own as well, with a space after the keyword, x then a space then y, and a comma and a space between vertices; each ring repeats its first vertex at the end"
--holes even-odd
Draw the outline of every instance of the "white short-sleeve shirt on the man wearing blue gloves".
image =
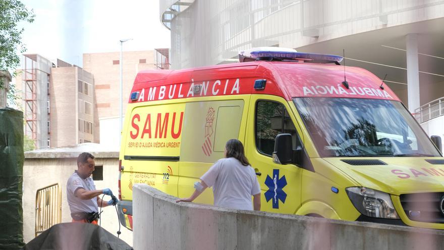
POLYGON ((68 179, 68 183, 66 185, 66 196, 68 199, 68 205, 70 207, 71 214, 81 212, 98 212, 97 197, 94 197, 92 199, 81 199, 79 197, 76 197, 74 193, 79 188, 91 191, 96 190, 94 181, 91 177, 82 179, 76 171, 68 179))

